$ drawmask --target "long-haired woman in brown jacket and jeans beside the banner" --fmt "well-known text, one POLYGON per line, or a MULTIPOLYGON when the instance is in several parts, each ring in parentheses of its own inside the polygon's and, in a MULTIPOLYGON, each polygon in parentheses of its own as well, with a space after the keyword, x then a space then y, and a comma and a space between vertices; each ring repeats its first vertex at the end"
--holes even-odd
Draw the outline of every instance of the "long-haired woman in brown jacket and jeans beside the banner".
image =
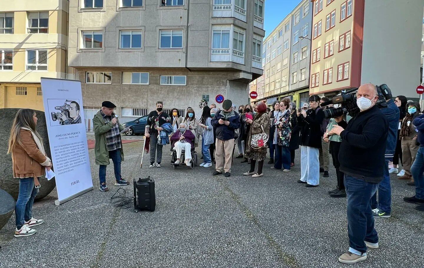
POLYGON ((19 179, 15 237, 33 235, 36 230, 31 227, 44 222, 32 217, 32 205, 40 187, 38 178, 46 168, 50 170, 52 163, 36 130, 37 120, 33 110, 20 109, 10 131, 8 153, 12 154, 13 177, 19 179))

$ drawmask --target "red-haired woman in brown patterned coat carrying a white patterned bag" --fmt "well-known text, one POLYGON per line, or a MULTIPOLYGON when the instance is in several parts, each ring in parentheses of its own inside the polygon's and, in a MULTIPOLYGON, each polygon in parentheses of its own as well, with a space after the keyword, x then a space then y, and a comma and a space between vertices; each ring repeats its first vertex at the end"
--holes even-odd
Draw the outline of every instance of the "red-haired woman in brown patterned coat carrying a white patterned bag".
POLYGON ((246 118, 246 123, 251 124, 249 134, 247 136, 246 142, 246 156, 250 160, 250 171, 243 173, 243 175, 252 175, 253 178, 262 177, 264 174, 262 173, 262 167, 264 165, 265 156, 267 153, 268 142, 264 141, 263 146, 252 146, 252 135, 255 134, 269 134, 269 128, 271 124, 271 120, 269 119, 268 114, 266 113, 266 104, 262 101, 256 105, 257 115, 255 115, 254 119, 251 120, 246 118), (255 164, 258 161, 258 172, 255 172, 255 164))

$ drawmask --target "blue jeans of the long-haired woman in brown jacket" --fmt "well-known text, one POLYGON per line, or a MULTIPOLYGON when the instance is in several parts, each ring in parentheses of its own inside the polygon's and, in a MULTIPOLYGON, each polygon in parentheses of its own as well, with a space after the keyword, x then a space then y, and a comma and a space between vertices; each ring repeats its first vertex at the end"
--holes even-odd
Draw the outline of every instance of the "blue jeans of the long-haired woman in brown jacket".
POLYGON ((19 179, 19 195, 16 201, 16 228, 21 229, 25 221, 32 218, 32 204, 38 194, 38 189, 34 187, 34 178, 19 179))

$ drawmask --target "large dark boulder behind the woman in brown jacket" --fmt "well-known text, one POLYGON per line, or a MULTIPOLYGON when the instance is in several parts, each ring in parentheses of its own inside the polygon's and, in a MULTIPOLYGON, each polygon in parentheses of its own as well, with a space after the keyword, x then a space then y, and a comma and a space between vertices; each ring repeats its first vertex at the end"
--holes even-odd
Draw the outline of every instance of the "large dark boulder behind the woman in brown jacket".
MULTIPOLYGON (((0 158, 0 188, 7 191, 15 200, 17 200, 19 193, 19 179, 13 178, 12 158, 10 154, 7 154, 7 148, 10 129, 18 110, 17 108, 0 109, 0 122, 2 122, 0 124, 0 155, 2 156, 0 158)), ((36 111, 36 114, 38 118, 37 131, 43 139, 46 154, 51 159, 45 115, 42 111, 36 111)), ((47 180, 44 176, 40 178, 40 184, 41 187, 36 200, 46 197, 56 187, 54 178, 47 180)))

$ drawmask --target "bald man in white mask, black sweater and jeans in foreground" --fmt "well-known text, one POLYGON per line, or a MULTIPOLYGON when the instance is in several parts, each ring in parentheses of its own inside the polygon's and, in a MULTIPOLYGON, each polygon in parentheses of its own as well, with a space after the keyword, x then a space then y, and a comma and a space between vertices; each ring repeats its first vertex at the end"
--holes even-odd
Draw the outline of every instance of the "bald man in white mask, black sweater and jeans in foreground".
POLYGON ((346 130, 334 126, 326 136, 342 138, 339 161, 345 173, 349 251, 339 257, 341 263, 366 260, 367 247, 377 249, 378 235, 374 228, 371 197, 384 177, 388 120, 375 104, 379 98, 373 84, 358 89, 360 112, 349 120, 346 130))

